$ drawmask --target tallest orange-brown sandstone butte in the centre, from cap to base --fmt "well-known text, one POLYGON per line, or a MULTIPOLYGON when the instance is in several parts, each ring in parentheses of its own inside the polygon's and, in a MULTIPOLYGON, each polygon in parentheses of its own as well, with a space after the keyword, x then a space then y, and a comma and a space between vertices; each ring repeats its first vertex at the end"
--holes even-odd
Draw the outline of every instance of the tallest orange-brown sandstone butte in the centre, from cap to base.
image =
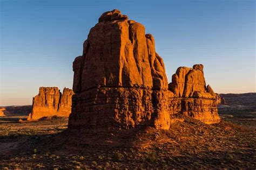
POLYGON ((157 107, 167 105, 158 97, 162 90, 172 95, 167 90, 164 62, 156 53, 153 36, 145 34, 142 24, 128 20, 119 10, 105 12, 83 47, 83 55, 73 62, 76 95, 71 129, 140 124, 170 127, 169 114, 157 107))

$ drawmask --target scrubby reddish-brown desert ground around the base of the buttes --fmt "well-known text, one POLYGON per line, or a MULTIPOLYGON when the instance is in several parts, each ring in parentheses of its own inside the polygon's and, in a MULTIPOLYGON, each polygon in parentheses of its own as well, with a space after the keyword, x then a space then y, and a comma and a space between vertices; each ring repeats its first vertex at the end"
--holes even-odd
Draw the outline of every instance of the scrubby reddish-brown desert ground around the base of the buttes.
MULTIPOLYGON (((70 132, 68 117, 0 117, 0 168, 256 168, 256 93, 221 94, 221 122, 179 117, 170 130, 70 132), (19 122, 23 119, 23 122, 19 122), (71 134, 72 133, 72 134, 71 134)), ((12 111, 13 112, 13 111, 12 111)))

